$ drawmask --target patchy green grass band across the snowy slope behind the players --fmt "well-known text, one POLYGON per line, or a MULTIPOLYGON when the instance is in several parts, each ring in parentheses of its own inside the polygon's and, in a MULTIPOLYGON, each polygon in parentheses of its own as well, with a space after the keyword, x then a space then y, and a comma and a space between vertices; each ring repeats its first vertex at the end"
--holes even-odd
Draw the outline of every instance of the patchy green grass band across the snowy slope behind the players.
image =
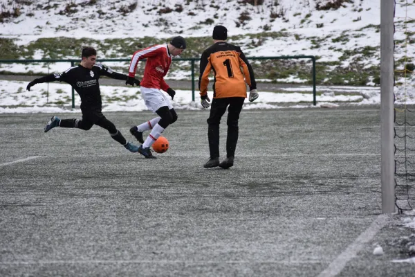
MULTIPOLYGON (((307 18, 307 17, 306 17, 307 18)), ((241 46, 243 51, 248 49, 255 49, 258 46, 265 44, 269 40, 282 39, 284 37, 292 37, 295 41, 302 41, 307 39, 311 42, 311 48, 329 47, 329 50, 342 53, 340 58, 335 62, 320 62, 317 57, 317 84, 349 84, 360 85, 364 84, 369 78, 377 78, 379 75, 378 66, 373 66, 371 69, 363 69, 362 61, 378 57, 379 47, 365 46, 355 49, 344 50, 338 44, 345 44, 349 42, 351 37, 358 38, 365 34, 366 28, 376 28, 378 25, 368 25, 360 30, 362 33, 343 32, 337 37, 327 35, 325 37, 304 37, 297 34, 288 33, 287 30, 279 32, 262 32, 252 33, 247 35, 234 35, 228 37, 228 42, 241 46), (330 46, 333 44, 333 46, 330 46), (343 63, 347 65, 342 65, 343 63), (354 64, 349 66, 348 64, 354 64), (358 70, 358 71, 356 71, 358 70), (361 72, 358 73, 358 72, 361 72)), ((408 33, 407 35, 413 35, 408 33)), ((80 60, 80 51, 83 46, 93 46, 98 51, 98 62, 100 59, 122 58, 127 59, 126 62, 117 66, 112 66, 111 62, 103 62, 105 65, 111 67, 116 72, 127 73, 129 66, 129 59, 135 51, 153 44, 168 43, 170 38, 156 39, 154 37, 129 38, 129 39, 73 39, 69 37, 53 37, 40 38, 35 42, 24 46, 17 46, 14 39, 0 38, 0 60, 14 60, 14 59, 33 59, 34 53, 42 53, 42 59, 76 59, 80 60)), ((181 55, 182 58, 200 57, 201 53, 213 44, 212 37, 186 37, 187 49, 181 55)), ((309 48, 304 48, 302 55, 308 55, 309 48)), ((301 55, 300 53, 298 55, 301 55)), ((255 56, 255 55, 252 55, 255 56)), ((277 79, 284 79, 288 77, 299 78, 306 80, 307 84, 312 83, 312 63, 311 60, 250 60, 254 67, 255 77, 257 79, 269 79, 271 82, 276 82, 277 79)), ((396 63, 403 67, 402 62, 396 63)), ((46 68, 46 64, 43 64, 46 68)), ((136 74, 142 76, 144 71, 144 62, 138 63, 136 74)), ((169 73, 178 71, 185 72, 186 78, 190 80, 192 63, 190 61, 174 61, 169 70, 169 73), (188 74, 187 74, 188 72, 188 74)), ((2 74, 16 74, 16 75, 45 75, 39 72, 24 72, 12 73, 8 71, 0 71, 2 74)), ((199 78, 199 60, 194 62, 195 79, 199 78)), ((172 74, 173 75, 173 74, 172 74)), ((377 80, 377 79, 376 79, 377 80)), ((57 92, 59 93, 59 92, 57 92)), ((138 95, 138 91, 136 94, 138 95)), ((124 99, 124 98, 122 98, 124 99)), ((117 101, 121 98, 109 98, 109 101, 117 101)))

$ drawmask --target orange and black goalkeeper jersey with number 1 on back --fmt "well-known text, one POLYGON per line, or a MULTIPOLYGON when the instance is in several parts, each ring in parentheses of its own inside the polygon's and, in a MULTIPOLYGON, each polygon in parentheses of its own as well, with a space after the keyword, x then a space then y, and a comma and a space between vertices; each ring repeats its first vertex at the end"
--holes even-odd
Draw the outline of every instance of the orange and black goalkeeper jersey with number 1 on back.
POLYGON ((199 91, 208 93, 210 71, 214 72, 213 98, 246 97, 246 84, 257 89, 254 72, 241 48, 226 42, 216 42, 201 57, 199 91))

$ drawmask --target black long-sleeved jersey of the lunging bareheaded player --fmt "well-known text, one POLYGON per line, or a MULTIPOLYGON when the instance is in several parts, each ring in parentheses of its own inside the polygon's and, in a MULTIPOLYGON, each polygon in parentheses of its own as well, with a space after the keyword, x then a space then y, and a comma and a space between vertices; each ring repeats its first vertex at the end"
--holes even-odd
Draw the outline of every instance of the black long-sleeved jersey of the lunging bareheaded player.
POLYGON ((127 80, 127 75, 113 72, 107 66, 95 64, 92 69, 87 69, 78 64, 62 73, 54 73, 37 79, 37 83, 41 82, 66 82, 71 84, 73 89, 81 97, 81 106, 101 107, 101 91, 98 80, 100 76, 105 75, 109 78, 118 80, 127 80))

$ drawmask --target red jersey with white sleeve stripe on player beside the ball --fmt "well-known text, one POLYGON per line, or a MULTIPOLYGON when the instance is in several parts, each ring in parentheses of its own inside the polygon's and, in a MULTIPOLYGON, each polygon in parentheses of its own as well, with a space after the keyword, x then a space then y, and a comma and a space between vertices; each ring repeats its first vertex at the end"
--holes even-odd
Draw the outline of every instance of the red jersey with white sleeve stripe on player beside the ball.
POLYGON ((147 59, 144 69, 144 76, 140 82, 142 87, 151 89, 163 89, 167 91, 169 85, 165 82, 164 76, 172 64, 172 55, 169 54, 166 44, 156 44, 133 54, 128 75, 136 75, 139 60, 147 59))

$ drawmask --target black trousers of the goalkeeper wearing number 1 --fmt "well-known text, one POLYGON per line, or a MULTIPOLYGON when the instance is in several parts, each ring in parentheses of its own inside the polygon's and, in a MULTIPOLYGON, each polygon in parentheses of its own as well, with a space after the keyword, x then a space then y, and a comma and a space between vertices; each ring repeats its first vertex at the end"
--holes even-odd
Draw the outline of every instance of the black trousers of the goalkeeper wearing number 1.
POLYGON ((238 120, 241 114, 243 97, 214 98, 210 107, 210 116, 208 118, 208 139, 210 158, 219 157, 219 125, 221 118, 228 108, 228 136, 226 137, 226 157, 234 157, 238 142, 238 120))

